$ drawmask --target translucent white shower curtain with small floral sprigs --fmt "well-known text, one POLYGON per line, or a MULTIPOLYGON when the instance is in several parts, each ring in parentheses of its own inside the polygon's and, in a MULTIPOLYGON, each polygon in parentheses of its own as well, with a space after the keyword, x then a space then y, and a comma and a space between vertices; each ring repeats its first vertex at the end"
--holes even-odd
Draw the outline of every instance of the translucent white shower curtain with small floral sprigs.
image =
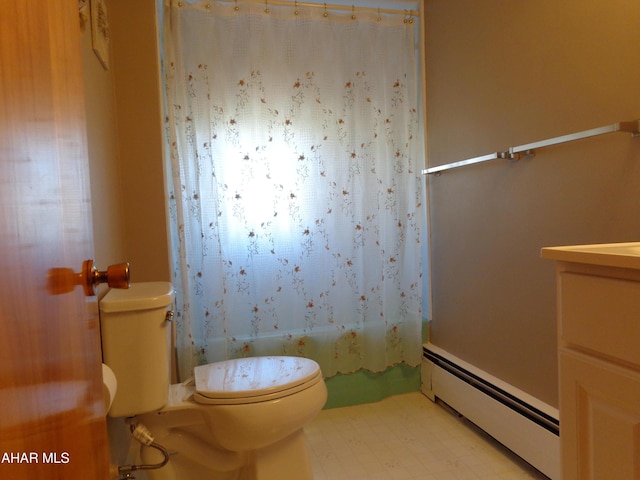
POLYGON ((417 365, 413 22, 252 2, 166 15, 181 376, 267 354, 325 376, 417 365))

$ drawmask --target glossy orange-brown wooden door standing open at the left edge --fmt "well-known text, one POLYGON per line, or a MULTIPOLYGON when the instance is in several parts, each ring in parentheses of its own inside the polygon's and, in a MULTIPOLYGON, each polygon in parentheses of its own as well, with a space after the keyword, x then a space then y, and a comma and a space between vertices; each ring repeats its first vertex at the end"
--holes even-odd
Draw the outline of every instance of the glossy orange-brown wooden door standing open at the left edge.
POLYGON ((0 478, 108 478, 77 0, 0 13, 0 478))

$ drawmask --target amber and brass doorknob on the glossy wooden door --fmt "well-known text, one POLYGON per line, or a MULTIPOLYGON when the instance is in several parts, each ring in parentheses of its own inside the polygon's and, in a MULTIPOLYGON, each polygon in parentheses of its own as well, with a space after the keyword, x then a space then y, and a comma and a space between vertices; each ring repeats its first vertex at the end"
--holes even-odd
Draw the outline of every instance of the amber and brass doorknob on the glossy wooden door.
POLYGON ((73 291, 76 285, 82 285, 84 294, 91 297, 101 283, 107 283, 111 288, 129 288, 129 263, 110 265, 105 271, 100 271, 93 260, 85 260, 80 273, 74 273, 70 268, 51 268, 47 290, 52 295, 60 295, 73 291))

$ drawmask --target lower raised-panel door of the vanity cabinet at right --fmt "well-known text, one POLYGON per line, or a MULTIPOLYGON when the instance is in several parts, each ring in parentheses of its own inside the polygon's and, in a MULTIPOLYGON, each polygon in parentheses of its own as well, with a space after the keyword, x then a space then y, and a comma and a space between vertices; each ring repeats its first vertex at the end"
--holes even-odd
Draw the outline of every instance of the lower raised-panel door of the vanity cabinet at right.
POLYGON ((564 480, 640 479, 640 374, 560 352, 564 480))

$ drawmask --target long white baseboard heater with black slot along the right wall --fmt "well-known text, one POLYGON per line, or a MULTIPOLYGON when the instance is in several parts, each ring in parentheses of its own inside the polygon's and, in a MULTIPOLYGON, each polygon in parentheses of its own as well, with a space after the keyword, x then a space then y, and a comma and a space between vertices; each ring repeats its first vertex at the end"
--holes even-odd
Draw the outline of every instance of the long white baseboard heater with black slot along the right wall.
POLYGON ((558 410, 449 352, 423 346, 422 392, 439 399, 551 479, 560 479, 558 410))

